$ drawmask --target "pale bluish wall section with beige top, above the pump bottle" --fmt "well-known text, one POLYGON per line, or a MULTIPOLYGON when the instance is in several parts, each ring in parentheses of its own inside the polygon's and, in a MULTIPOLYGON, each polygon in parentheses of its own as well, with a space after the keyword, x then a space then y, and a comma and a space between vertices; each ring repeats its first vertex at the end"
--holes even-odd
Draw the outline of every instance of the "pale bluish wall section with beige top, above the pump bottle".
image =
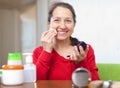
POLYGON ((22 23, 22 53, 32 53, 36 47, 36 4, 20 10, 22 23))

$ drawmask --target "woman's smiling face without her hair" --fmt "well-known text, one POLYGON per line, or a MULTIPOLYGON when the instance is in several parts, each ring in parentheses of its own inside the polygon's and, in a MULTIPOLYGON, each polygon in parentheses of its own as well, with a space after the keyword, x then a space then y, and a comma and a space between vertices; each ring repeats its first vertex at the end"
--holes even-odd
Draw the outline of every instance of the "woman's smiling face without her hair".
POLYGON ((71 11, 64 7, 54 9, 49 26, 57 31, 56 39, 65 40, 74 30, 74 19, 71 11))

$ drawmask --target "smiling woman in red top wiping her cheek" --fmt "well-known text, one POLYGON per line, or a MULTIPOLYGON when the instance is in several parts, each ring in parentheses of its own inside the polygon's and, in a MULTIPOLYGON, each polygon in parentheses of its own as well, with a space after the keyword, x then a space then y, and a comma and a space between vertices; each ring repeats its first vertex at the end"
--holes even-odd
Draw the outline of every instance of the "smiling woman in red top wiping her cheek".
POLYGON ((76 23, 73 7, 68 3, 55 3, 49 11, 49 30, 41 36, 42 46, 33 52, 37 67, 37 80, 71 80, 72 72, 79 67, 88 69, 92 80, 99 80, 98 68, 92 47, 84 50, 71 35, 76 23))

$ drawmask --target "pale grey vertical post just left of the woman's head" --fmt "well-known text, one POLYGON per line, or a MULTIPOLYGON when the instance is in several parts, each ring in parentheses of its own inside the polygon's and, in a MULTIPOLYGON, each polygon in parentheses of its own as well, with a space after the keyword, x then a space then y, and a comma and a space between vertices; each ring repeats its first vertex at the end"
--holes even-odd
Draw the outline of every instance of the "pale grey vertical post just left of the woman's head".
POLYGON ((36 46, 41 45, 41 33, 48 30, 48 0, 37 0, 36 46))

